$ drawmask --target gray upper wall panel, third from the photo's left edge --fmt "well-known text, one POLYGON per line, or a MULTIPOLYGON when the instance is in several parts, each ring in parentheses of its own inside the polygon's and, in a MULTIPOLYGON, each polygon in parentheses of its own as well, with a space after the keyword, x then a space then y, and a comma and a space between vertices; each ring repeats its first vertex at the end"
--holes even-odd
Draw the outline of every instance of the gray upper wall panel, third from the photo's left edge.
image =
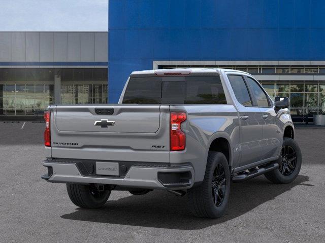
POLYGON ((26 62, 40 61, 40 32, 26 32, 26 62))

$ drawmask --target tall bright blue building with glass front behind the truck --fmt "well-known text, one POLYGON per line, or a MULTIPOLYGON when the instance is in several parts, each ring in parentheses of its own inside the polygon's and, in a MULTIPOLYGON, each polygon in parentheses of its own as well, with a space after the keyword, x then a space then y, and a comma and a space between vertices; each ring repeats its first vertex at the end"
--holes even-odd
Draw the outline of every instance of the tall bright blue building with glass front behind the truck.
POLYGON ((324 15, 325 3, 311 0, 110 0, 109 102, 133 70, 221 67, 289 97, 300 121, 323 114, 324 15))

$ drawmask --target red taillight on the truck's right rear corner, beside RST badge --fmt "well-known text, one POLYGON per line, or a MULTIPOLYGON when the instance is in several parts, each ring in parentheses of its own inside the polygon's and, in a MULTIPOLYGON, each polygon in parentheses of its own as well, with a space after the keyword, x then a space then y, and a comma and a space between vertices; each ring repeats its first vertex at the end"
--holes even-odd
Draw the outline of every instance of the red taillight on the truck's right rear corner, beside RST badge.
POLYGON ((185 133, 181 130, 181 123, 185 120, 185 112, 171 112, 171 151, 185 149, 185 133))

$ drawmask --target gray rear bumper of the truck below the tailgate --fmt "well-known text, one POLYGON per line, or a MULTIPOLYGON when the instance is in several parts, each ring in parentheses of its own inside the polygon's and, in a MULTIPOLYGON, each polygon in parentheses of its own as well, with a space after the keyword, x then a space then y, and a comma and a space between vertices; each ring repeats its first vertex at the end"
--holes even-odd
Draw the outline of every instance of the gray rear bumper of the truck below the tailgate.
POLYGON ((123 178, 112 176, 84 176, 76 163, 51 163, 43 161, 48 174, 42 176, 48 182, 110 184, 121 187, 148 189, 187 189, 194 183, 194 170, 189 164, 155 167, 132 166, 123 178), (176 179, 175 179, 176 178, 176 179))

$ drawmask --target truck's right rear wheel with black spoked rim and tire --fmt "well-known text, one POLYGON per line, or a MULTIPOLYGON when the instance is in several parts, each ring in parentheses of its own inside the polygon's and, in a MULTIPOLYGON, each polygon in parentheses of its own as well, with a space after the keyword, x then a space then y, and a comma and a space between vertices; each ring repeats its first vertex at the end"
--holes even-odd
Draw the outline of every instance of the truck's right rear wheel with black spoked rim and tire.
POLYGON ((209 152, 202 184, 187 190, 191 212, 203 218, 221 217, 228 204, 230 181, 229 165, 224 154, 209 152))

